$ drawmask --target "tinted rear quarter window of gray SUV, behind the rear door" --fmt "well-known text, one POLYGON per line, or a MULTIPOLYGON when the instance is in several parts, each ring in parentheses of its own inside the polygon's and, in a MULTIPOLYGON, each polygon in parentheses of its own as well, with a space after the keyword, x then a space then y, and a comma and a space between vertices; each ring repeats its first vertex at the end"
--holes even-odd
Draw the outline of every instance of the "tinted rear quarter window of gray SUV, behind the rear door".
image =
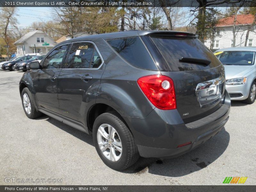
POLYGON ((140 37, 114 39, 109 40, 108 43, 131 65, 143 69, 157 70, 153 59, 140 40, 140 37))

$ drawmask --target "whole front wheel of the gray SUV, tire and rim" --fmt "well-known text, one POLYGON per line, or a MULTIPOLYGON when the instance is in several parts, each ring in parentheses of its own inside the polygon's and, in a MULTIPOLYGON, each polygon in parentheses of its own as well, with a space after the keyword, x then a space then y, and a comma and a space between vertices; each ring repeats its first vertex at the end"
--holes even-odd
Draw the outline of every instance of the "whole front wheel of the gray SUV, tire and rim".
POLYGON ((36 110, 35 101, 27 87, 25 87, 21 92, 21 100, 24 112, 28 118, 35 119, 42 115, 40 111, 36 110))

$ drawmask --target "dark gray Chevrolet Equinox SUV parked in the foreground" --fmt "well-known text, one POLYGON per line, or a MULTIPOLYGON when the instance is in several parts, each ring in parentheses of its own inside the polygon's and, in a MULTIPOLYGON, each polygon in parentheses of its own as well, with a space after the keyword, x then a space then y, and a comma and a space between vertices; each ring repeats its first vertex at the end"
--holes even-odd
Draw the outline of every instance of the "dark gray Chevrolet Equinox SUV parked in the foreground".
POLYGON ((102 161, 124 170, 139 156, 180 156, 229 118, 221 62, 191 33, 127 31, 56 45, 20 80, 25 114, 88 134, 102 161))

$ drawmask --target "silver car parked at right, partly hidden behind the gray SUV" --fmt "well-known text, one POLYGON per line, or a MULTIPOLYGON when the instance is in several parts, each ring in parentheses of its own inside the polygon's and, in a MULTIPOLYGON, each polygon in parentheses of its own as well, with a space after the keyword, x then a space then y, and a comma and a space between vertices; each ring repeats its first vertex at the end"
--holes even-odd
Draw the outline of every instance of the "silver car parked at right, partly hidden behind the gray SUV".
POLYGON ((226 74, 226 89, 231 100, 255 101, 256 94, 256 47, 231 47, 214 54, 222 62, 226 74))

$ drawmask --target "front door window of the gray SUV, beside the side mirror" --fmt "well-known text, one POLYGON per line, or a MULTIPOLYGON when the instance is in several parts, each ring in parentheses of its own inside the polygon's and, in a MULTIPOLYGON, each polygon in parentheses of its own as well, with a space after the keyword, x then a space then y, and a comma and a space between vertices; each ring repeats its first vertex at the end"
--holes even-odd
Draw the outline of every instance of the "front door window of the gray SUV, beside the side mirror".
POLYGON ((44 60, 44 69, 58 69, 61 68, 61 63, 65 53, 68 49, 68 45, 62 45, 54 49, 44 60))

